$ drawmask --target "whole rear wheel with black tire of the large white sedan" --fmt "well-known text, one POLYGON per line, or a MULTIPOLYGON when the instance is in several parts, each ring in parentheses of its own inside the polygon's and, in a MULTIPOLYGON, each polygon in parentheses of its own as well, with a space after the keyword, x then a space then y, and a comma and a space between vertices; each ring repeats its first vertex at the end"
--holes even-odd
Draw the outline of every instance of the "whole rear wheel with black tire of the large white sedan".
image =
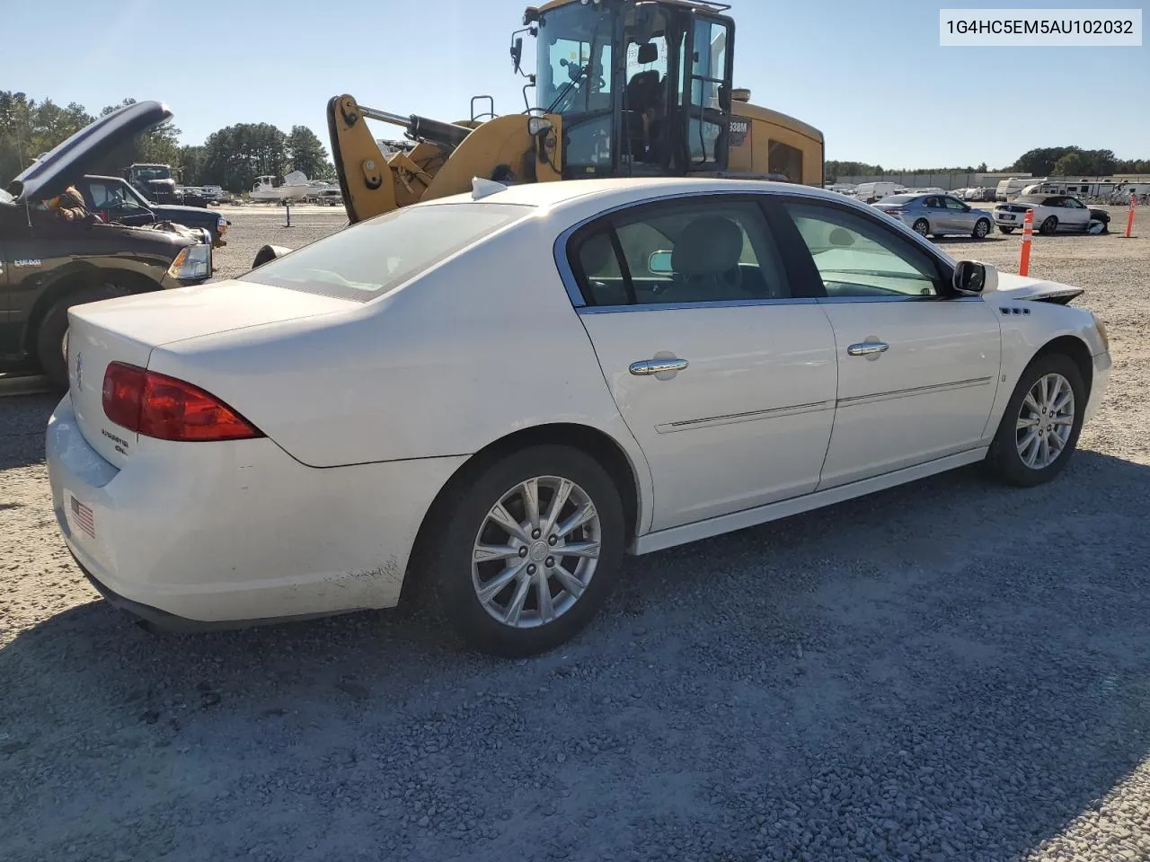
POLYGON ((593 457, 551 444, 503 457, 465 480, 423 534, 436 609, 480 652, 524 657, 553 649, 591 621, 619 577, 627 529, 619 490, 593 457), (560 486, 567 495, 557 514, 551 507, 560 486), (590 517, 570 528, 575 513, 590 517), (566 523, 566 534, 558 528, 545 534, 549 522, 566 523), (575 546, 578 554, 562 553, 575 546))

